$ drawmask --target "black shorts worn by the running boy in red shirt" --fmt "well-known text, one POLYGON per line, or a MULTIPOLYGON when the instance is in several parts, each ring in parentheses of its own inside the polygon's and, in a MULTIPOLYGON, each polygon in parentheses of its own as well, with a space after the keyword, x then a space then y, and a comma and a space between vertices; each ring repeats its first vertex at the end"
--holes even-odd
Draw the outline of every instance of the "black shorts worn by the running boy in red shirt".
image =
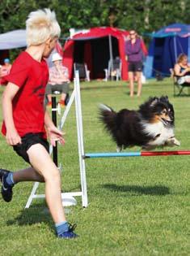
POLYGON ((30 163, 27 150, 32 145, 41 144, 44 145, 45 150, 49 152, 49 142, 42 137, 43 133, 27 133, 21 137, 22 144, 13 145, 13 149, 20 157, 22 157, 27 163, 30 163))

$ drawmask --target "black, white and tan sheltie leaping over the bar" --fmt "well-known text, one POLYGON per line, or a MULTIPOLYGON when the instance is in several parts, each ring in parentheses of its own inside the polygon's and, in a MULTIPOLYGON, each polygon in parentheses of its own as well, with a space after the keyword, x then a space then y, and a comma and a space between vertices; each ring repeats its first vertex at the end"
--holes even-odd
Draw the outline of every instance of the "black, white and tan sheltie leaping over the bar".
POLYGON ((116 141, 117 151, 133 145, 146 150, 180 145, 174 134, 174 108, 167 96, 149 98, 137 111, 122 109, 116 113, 103 104, 100 104, 99 111, 104 127, 116 141))

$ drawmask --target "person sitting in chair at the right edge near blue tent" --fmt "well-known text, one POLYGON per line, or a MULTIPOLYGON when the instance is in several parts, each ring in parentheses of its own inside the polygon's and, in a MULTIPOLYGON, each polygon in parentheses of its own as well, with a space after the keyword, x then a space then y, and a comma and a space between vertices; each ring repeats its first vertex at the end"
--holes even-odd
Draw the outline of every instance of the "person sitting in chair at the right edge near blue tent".
POLYGON ((183 85, 189 83, 190 85, 190 66, 188 65, 188 56, 185 54, 179 54, 177 63, 174 67, 174 75, 177 78, 177 83, 183 85))

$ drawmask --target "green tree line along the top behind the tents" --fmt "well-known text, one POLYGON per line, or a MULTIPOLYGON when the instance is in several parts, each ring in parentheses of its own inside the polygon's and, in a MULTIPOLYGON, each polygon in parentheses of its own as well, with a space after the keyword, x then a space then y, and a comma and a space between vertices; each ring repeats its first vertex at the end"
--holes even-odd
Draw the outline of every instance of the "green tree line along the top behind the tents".
POLYGON ((151 33, 172 23, 189 23, 189 0, 1 0, 0 33, 25 28, 31 11, 49 7, 57 14, 61 37, 70 28, 113 26, 151 33))

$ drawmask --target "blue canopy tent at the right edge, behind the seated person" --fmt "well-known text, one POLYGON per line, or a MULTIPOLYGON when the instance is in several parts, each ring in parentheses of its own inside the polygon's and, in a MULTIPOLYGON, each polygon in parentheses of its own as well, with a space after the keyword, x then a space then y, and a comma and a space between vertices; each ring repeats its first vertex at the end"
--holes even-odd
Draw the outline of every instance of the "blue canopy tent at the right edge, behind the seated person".
POLYGON ((169 76, 170 68, 174 67, 180 53, 187 54, 190 61, 189 25, 171 24, 146 36, 152 37, 144 67, 146 78, 154 77, 156 74, 169 76))

